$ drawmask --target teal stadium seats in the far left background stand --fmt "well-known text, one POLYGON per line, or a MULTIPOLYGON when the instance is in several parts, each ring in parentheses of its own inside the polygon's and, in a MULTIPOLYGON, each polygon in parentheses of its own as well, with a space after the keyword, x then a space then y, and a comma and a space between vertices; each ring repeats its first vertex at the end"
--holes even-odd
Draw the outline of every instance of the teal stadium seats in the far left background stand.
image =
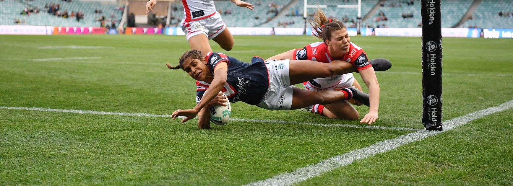
MULTIPOLYGON (((61 0, 37 0, 37 1, 22 1, 22 0, 4 0, 0 1, 0 25, 36 25, 36 26, 62 26, 62 27, 98 27, 100 22, 95 21, 95 18, 105 15, 110 18, 114 14, 115 19, 119 22, 121 20, 122 11, 116 10, 116 6, 112 4, 102 4, 100 2, 83 2, 72 1, 64 2, 61 0), (46 4, 60 4, 61 11, 68 10, 84 12, 85 16, 79 22, 75 18, 62 18, 54 16, 47 12, 45 9, 46 4), (32 7, 33 9, 39 8, 40 13, 31 15, 20 15, 24 8, 32 7), (101 14, 95 14, 95 9, 102 9, 101 14), (21 24, 15 24, 14 19, 21 19, 21 24), (25 23, 24 23, 25 21, 25 23)), ((110 24, 109 24, 110 25, 110 24)))

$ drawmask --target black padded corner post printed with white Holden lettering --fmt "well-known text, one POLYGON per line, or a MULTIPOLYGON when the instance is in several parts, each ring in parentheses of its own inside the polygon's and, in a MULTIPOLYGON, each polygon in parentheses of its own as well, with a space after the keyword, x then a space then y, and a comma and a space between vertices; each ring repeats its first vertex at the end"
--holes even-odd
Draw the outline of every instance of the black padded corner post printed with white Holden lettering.
POLYGON ((425 130, 442 130, 441 0, 421 0, 422 123, 425 130))

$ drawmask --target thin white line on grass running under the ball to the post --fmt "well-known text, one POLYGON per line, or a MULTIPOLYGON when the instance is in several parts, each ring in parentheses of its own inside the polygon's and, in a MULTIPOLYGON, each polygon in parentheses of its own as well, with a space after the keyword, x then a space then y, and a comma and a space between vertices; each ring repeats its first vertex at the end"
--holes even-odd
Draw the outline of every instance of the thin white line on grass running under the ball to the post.
MULTIPOLYGON (((45 108, 29 108, 29 107, 3 107, 0 109, 14 109, 14 110, 30 110, 30 111, 45 111, 45 112, 68 112, 76 114, 99 114, 99 115, 120 115, 120 116, 146 116, 146 117, 171 117, 171 115, 160 114, 146 114, 146 113, 126 113, 126 112, 103 112, 103 111, 85 111, 85 110, 66 110, 66 109, 45 109, 45 108)), ((185 118, 185 117, 180 117, 185 118)), ((288 123, 299 125, 316 125, 324 127, 347 127, 347 128, 362 128, 362 129, 389 129, 389 130, 405 130, 405 131, 418 131, 419 129, 401 128, 401 127, 381 127, 381 126, 352 126, 352 125, 339 125, 339 124, 326 124, 326 123, 309 123, 309 122, 294 122, 294 121, 281 121, 281 120, 261 120, 261 119, 240 119, 230 118, 234 121, 250 121, 250 122, 275 122, 275 123, 288 123)))

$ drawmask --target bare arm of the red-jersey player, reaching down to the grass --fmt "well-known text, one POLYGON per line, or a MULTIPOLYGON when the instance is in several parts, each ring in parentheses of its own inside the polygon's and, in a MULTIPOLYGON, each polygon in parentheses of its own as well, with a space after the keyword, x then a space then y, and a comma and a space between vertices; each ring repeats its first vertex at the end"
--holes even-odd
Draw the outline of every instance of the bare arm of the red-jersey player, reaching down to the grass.
POLYGON ((365 114, 360 122, 365 122, 370 125, 372 122, 375 122, 376 119, 378 119, 378 108, 380 105, 380 85, 373 68, 363 69, 359 72, 363 81, 365 82, 365 85, 367 85, 369 88, 370 101, 369 113, 365 114))

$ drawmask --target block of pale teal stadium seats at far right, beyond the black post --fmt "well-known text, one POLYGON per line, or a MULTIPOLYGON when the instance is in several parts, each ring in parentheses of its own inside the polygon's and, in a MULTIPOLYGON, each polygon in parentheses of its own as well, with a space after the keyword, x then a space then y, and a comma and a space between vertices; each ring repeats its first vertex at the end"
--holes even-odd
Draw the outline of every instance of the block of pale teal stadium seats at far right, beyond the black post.
POLYGON ((513 2, 510 0, 483 1, 473 13, 472 19, 468 19, 462 26, 465 28, 513 28, 513 17, 499 16, 501 11, 504 14, 513 11, 513 2))

